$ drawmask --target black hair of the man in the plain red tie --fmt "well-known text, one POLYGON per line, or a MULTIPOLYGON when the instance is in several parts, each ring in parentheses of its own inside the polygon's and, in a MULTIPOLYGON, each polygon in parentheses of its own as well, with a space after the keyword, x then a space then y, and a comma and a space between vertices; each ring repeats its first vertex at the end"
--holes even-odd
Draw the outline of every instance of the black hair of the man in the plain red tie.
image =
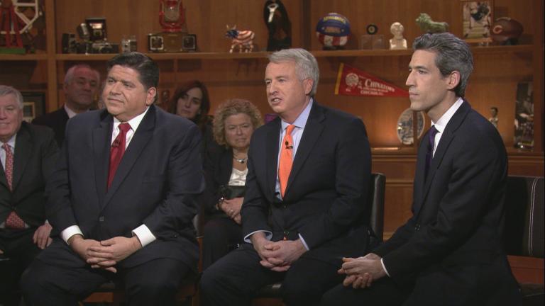
POLYGON ((107 64, 108 72, 115 65, 135 69, 140 76, 138 79, 143 84, 145 90, 150 87, 157 88, 159 84, 159 66, 158 64, 141 52, 121 53, 112 57, 107 64))

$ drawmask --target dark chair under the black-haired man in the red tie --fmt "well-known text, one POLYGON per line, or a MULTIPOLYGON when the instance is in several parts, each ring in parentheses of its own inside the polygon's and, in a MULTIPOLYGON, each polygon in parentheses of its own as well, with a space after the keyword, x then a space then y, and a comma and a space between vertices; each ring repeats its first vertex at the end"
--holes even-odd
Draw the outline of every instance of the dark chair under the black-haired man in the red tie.
MULTIPOLYGON (((198 289, 200 273, 202 273, 202 234, 200 232, 201 227, 199 226, 199 215, 194 217, 193 225, 195 229, 197 229, 197 242, 199 242, 199 275, 182 281, 180 289, 176 295, 176 300, 179 302, 187 301, 189 303, 188 305, 199 306, 200 302, 198 289)), ((97 290, 95 290, 94 293, 80 302, 80 305, 82 305, 82 303, 111 303, 111 305, 114 306, 120 305, 125 301, 125 292, 122 288, 122 285, 113 281, 104 283, 97 290)))

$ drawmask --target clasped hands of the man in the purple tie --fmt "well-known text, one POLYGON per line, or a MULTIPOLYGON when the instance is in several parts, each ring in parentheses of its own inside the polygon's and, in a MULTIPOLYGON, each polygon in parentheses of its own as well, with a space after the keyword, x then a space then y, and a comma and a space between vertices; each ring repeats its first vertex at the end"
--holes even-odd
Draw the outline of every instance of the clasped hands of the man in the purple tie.
POLYGON ((343 258, 343 266, 337 271, 339 274, 346 274, 343 285, 352 288, 368 288, 373 280, 386 276, 380 256, 369 253, 363 257, 343 258))

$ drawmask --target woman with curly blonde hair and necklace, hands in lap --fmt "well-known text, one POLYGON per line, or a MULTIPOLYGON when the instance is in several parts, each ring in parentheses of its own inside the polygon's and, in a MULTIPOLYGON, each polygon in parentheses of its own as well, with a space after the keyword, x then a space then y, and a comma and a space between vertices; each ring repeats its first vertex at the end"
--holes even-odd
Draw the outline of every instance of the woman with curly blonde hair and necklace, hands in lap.
POLYGON ((218 106, 212 124, 214 139, 226 149, 208 157, 204 164, 204 269, 243 242, 240 211, 248 174, 248 147, 253 131, 263 120, 250 101, 231 99, 218 106))

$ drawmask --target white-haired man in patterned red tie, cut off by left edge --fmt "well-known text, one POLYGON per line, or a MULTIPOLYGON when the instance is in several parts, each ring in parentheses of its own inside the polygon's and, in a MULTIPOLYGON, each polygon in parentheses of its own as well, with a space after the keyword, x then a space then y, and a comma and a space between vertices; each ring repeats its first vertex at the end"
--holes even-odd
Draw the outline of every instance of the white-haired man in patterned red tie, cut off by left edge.
POLYGON ((50 128, 23 121, 23 96, 0 85, 0 305, 19 305, 19 278, 50 243, 45 180, 58 148, 50 128))

